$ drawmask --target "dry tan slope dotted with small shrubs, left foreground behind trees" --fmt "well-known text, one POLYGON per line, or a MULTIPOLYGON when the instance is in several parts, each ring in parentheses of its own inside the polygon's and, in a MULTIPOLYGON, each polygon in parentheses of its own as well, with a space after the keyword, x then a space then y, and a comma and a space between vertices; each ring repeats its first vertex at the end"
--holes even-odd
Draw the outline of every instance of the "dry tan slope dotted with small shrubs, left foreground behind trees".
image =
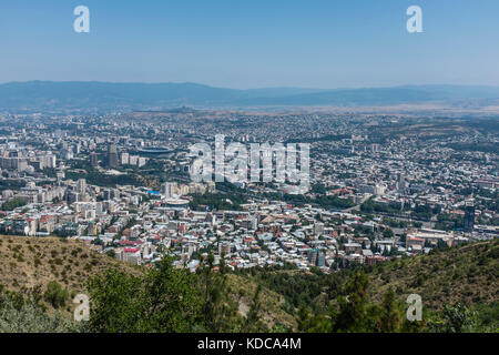
MULTIPOLYGON (((149 280, 151 274, 144 267, 131 266, 106 255, 92 252, 79 241, 59 237, 0 235, 0 296, 3 293, 24 297, 27 308, 22 322, 28 317, 31 320, 31 323, 35 323, 33 327, 22 327, 20 325, 14 328, 9 327, 10 329, 39 332, 43 328, 40 324, 57 324, 57 326, 51 327, 54 332, 59 329, 77 329, 78 327, 74 324, 70 324, 67 321, 71 321, 72 312, 75 307, 72 304, 72 298, 81 292, 93 294, 95 300, 99 300, 99 295, 104 296, 105 294, 108 298, 101 300, 109 302, 109 304, 103 305, 109 307, 110 311, 118 312, 119 306, 124 306, 130 308, 131 312, 136 312, 136 310, 133 310, 132 298, 135 301, 135 295, 141 296, 139 293, 140 288, 142 288, 142 292, 143 288, 151 286, 149 280), (122 292, 113 294, 114 287, 111 287, 113 285, 123 285, 129 292, 122 290, 122 292), (136 287, 136 290, 133 287, 136 287), (100 293, 99 291, 102 290, 106 292, 100 293), (114 310, 112 308, 113 302, 115 303, 114 310), (43 315, 44 311, 49 311, 50 314, 55 312, 57 317, 62 316, 68 320, 62 320, 63 322, 61 321, 61 323, 59 318, 47 318, 43 315)), ((173 274, 177 280, 183 280, 184 277, 183 271, 175 271, 173 274)), ((226 275, 223 285, 218 282, 218 275, 215 274, 210 276, 211 281, 206 282, 204 282, 202 274, 192 276, 181 292, 190 290, 190 292, 195 294, 200 290, 211 287, 211 292, 220 294, 218 301, 231 308, 230 311, 224 311, 226 313, 224 317, 234 321, 234 324, 238 324, 237 326, 240 327, 244 326, 244 320, 252 312, 253 298, 258 288, 256 283, 246 283, 240 276, 233 274, 226 275), (190 286, 193 287, 190 288, 190 286), (228 296, 221 293, 226 293, 228 296)), ((166 284, 165 293, 167 286, 166 284)), ((18 298, 16 297, 14 300, 18 298)), ((294 317, 281 308, 281 305, 284 303, 283 296, 268 288, 262 288, 258 300, 261 300, 257 310, 258 322, 262 323, 259 326, 261 331, 273 328, 277 325, 283 329, 296 327, 294 317)), ((198 311, 201 312, 201 310, 198 311)), ((9 312, 11 316, 14 310, 9 312)), ((193 320, 194 323, 202 322, 197 318, 193 320)), ((0 320, 0 324, 2 320, 0 320)), ((135 324, 135 322, 132 323, 135 324)), ((133 328, 133 331, 149 329, 143 327, 140 329, 133 328)))

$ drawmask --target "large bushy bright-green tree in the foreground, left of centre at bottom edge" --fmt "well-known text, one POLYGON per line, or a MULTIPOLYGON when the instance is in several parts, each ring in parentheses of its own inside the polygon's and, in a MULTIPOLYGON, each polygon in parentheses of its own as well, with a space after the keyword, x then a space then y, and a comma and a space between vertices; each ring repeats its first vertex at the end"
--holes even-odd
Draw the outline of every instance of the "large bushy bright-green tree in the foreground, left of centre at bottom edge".
POLYGON ((203 323, 193 274, 165 256, 142 275, 109 270, 89 283, 90 328, 100 333, 192 332, 203 323))

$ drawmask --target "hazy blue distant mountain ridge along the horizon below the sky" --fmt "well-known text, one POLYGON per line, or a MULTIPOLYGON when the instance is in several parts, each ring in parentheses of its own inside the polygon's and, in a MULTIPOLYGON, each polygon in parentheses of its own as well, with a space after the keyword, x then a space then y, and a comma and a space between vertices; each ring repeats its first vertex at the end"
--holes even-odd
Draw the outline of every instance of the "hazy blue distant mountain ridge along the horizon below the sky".
POLYGON ((11 82, 0 84, 0 110, 140 111, 182 105, 377 106, 445 103, 457 106, 499 104, 499 88, 417 85, 365 89, 268 88, 236 90, 196 83, 11 82))

